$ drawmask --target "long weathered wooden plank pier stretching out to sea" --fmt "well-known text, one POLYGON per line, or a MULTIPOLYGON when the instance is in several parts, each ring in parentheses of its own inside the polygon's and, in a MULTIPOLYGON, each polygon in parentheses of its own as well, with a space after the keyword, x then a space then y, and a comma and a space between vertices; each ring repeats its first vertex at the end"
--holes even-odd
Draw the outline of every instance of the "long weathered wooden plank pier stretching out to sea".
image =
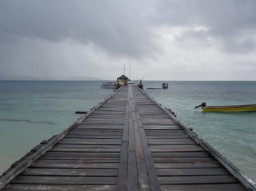
POLYGON ((256 190, 137 86, 121 87, 1 176, 2 190, 256 190))

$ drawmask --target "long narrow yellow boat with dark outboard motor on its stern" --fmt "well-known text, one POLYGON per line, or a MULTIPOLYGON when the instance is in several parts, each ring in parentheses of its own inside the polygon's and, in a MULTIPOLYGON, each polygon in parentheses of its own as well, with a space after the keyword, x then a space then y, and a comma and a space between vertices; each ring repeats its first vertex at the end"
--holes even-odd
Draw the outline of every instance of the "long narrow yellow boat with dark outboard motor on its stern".
POLYGON ((206 102, 203 102, 199 106, 195 106, 195 108, 200 106, 202 106, 203 112, 256 112, 256 104, 206 106, 206 102))

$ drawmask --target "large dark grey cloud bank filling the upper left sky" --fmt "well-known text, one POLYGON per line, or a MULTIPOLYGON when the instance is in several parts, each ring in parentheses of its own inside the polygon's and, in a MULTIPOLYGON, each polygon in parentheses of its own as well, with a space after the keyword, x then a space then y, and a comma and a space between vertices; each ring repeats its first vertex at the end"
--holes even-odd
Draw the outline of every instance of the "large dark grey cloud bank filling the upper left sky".
POLYGON ((138 4, 122 1, 4 1, 1 42, 15 36, 94 44, 110 54, 140 58, 157 51, 138 4), (15 24, 14 24, 15 23, 15 24), (151 47, 149 49, 148 47, 151 47))

